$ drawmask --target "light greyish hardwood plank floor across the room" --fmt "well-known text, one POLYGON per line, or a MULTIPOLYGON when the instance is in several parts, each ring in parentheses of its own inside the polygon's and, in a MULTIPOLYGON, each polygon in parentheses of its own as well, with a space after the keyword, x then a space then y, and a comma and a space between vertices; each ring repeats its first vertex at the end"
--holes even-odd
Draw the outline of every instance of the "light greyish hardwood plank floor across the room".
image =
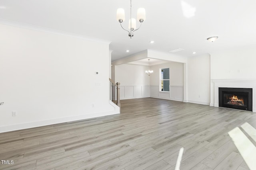
MULTIPOLYGON (((11 170, 248 170, 228 132, 249 111, 142 98, 121 101, 121 114, 0 133, 1 164, 11 170)), ((255 145, 255 142, 254 142, 255 145)))

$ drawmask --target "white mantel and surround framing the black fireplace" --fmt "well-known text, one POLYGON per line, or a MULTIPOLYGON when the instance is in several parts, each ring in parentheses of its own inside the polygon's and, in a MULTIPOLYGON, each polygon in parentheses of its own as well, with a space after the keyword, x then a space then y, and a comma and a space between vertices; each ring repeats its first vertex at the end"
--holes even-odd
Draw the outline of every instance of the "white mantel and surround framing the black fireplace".
POLYGON ((256 79, 211 79, 211 94, 214 96, 214 106, 219 107, 219 87, 252 88, 252 111, 256 112, 256 79))

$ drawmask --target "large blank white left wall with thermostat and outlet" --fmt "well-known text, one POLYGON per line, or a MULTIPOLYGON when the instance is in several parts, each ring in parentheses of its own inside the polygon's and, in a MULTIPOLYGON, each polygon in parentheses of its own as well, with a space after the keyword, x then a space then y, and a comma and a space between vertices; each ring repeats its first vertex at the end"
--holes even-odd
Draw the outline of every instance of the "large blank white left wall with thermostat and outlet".
POLYGON ((0 132, 116 113, 108 43, 3 24, 0 37, 0 132))

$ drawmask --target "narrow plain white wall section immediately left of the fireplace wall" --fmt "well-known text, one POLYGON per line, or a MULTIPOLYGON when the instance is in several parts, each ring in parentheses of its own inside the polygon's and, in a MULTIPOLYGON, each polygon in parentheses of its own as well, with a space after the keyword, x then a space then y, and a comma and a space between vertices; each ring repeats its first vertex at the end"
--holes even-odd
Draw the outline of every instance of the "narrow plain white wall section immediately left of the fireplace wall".
POLYGON ((210 55, 188 58, 188 102, 210 104, 210 55))

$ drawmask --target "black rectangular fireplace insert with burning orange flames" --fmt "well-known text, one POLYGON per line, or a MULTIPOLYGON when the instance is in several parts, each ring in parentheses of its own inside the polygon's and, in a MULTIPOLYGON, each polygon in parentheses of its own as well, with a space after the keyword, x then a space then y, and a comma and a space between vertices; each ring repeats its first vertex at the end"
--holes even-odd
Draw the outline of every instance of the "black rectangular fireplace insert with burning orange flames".
POLYGON ((219 107, 252 111, 252 88, 219 88, 219 107))

